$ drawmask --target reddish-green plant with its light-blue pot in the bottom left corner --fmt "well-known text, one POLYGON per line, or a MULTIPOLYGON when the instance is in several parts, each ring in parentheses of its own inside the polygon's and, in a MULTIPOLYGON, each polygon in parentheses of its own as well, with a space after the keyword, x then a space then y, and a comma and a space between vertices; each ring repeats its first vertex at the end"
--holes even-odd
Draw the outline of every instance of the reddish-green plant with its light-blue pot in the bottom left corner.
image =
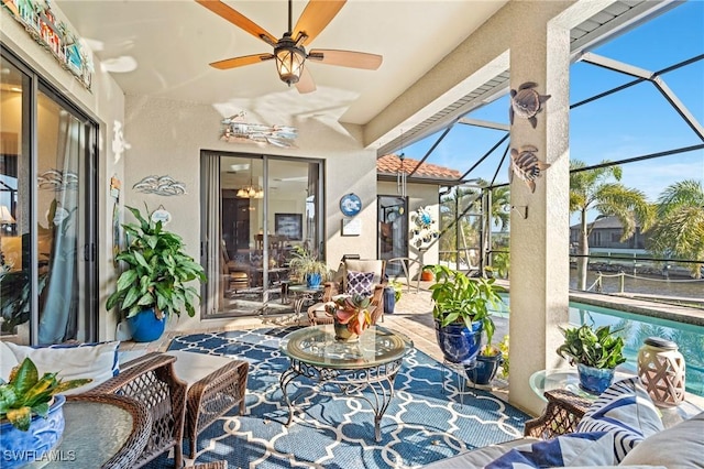
POLYGON ((21 467, 40 460, 56 446, 64 433, 63 405, 66 401, 58 394, 90 381, 64 382, 57 373, 44 373, 40 378, 36 366, 29 358, 14 367, 10 381, 0 384, 2 467, 21 467))

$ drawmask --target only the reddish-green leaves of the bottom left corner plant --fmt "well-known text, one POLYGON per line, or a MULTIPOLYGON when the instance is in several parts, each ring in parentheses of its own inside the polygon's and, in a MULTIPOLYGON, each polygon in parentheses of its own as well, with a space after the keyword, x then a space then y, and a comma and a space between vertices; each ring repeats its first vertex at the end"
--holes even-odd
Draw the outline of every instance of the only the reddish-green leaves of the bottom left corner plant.
POLYGON ((0 418, 26 432, 32 415, 46 418, 54 394, 66 392, 91 382, 91 379, 62 381, 57 373, 38 375, 34 362, 25 358, 10 373, 10 382, 0 384, 0 418))

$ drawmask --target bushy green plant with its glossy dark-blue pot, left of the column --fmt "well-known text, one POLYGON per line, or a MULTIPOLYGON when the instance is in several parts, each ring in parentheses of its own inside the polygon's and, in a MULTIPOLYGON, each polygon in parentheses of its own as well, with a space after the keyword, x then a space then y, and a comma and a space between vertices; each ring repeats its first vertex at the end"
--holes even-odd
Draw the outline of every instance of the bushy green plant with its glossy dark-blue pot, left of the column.
POLYGON ((503 287, 494 279, 468 277, 444 265, 427 265, 436 283, 430 285, 436 337, 446 360, 473 367, 480 351, 482 330, 487 343, 494 336, 490 306, 503 303, 503 287))

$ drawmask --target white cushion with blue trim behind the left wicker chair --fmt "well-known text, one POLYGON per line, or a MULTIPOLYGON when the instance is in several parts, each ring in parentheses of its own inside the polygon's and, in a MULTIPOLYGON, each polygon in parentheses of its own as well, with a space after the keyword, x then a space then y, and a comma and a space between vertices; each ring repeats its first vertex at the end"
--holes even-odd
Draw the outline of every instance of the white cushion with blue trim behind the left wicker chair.
POLYGON ((16 343, 8 343, 19 363, 30 358, 40 372, 58 372, 58 378, 64 381, 84 378, 92 379, 92 382, 80 388, 66 391, 64 394, 78 394, 87 392, 98 384, 109 380, 120 372, 118 361, 118 347, 120 342, 56 345, 50 347, 26 347, 16 343))

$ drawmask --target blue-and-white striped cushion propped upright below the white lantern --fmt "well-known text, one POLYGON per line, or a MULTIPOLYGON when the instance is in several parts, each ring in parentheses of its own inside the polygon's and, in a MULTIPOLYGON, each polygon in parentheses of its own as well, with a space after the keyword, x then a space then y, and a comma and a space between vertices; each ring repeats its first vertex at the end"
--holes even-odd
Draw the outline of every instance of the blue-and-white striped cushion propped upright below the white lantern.
POLYGON ((638 443, 662 428, 660 414, 640 378, 632 377, 608 386, 586 411, 576 430, 613 433, 614 456, 620 462, 638 443))

